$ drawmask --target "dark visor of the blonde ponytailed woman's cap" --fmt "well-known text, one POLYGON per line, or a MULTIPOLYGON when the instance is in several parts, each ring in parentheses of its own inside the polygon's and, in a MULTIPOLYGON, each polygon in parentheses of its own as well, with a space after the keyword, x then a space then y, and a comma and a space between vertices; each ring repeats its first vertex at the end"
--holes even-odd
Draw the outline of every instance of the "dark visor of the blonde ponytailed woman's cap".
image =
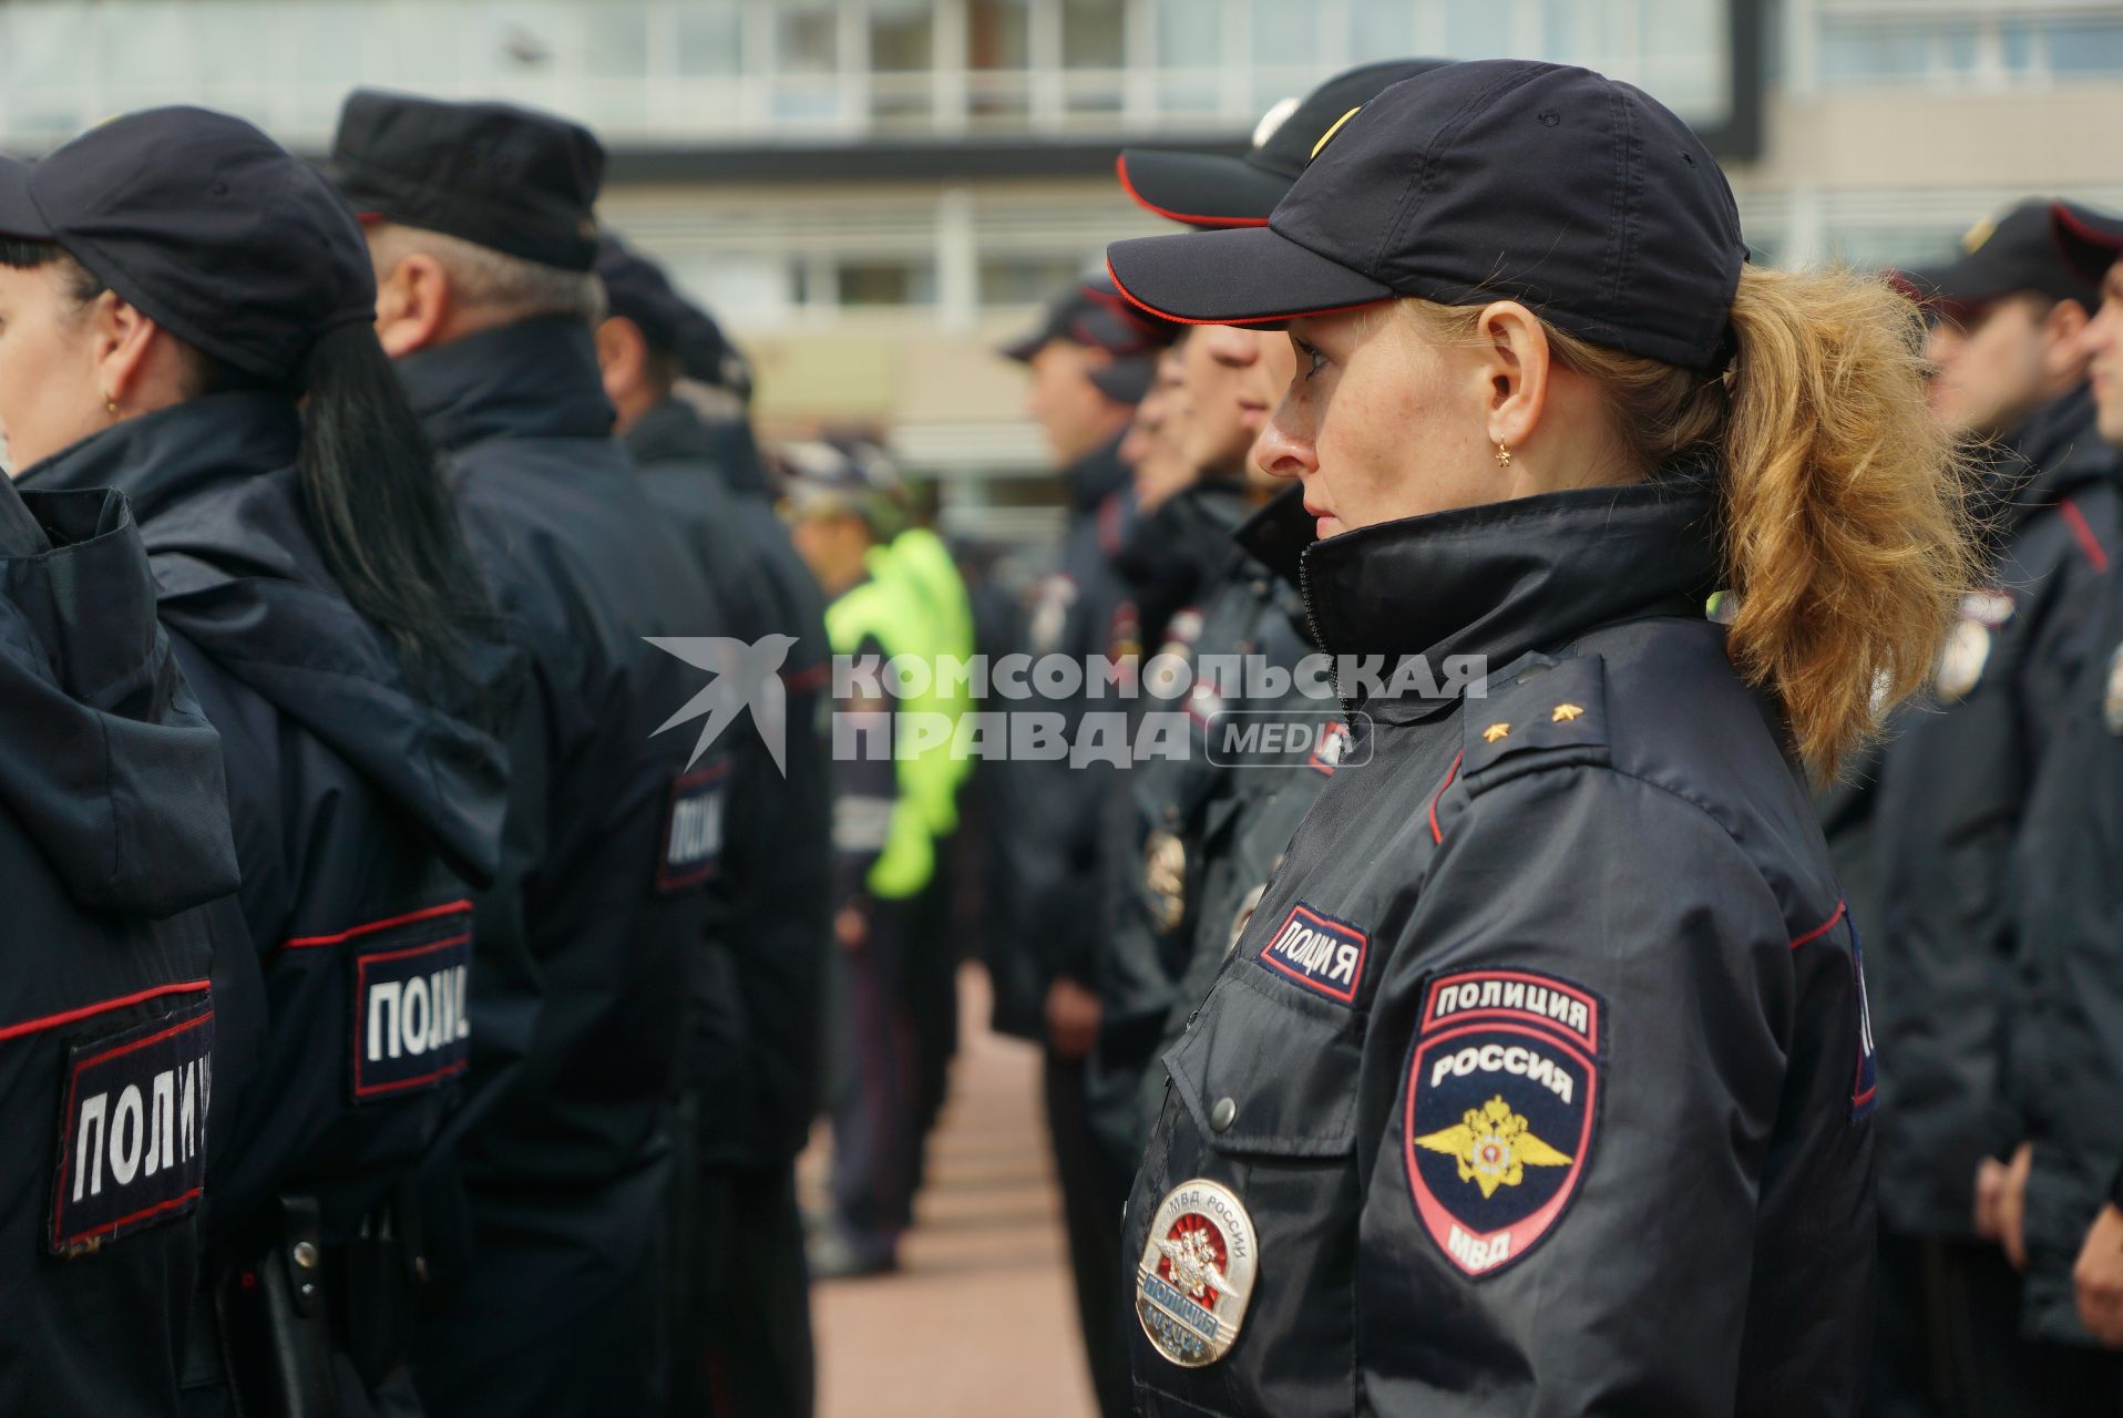
POLYGON ((1112 242, 1106 270, 1121 295, 1180 325, 1284 325, 1395 297, 1270 227, 1112 242))

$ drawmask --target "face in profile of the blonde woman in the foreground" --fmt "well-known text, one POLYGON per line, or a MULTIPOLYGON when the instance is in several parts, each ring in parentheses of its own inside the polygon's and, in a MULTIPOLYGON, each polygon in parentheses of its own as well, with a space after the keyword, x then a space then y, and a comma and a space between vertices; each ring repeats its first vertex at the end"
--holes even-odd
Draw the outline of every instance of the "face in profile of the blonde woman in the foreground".
POLYGON ((1297 371, 1253 456, 1304 482, 1321 537, 1499 495, 1478 348, 1427 342, 1399 306, 1293 321, 1289 340, 1297 371))

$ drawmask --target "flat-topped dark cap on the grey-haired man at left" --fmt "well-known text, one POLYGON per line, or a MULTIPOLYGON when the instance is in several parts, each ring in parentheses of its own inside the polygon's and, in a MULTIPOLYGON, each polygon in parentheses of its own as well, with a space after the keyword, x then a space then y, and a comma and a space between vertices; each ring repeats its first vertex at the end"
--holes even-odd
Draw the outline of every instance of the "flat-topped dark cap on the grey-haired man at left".
POLYGON ((329 166, 363 217, 539 265, 597 265, 605 149, 580 123, 514 104, 355 89, 329 166))

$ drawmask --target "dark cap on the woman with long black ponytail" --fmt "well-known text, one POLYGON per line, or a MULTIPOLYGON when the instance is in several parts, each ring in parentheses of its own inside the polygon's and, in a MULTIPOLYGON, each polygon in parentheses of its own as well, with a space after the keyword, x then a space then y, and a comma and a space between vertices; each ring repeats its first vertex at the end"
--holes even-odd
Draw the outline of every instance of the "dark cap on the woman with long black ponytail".
POLYGON ((176 338, 270 382, 297 382, 325 331, 376 318, 340 195, 208 108, 127 113, 34 163, 0 159, 0 234, 57 242, 176 338))

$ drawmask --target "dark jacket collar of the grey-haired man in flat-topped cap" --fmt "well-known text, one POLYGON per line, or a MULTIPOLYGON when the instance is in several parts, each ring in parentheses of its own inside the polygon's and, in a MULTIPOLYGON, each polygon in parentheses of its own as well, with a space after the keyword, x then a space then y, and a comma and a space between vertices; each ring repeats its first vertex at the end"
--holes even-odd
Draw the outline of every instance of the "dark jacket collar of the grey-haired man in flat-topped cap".
POLYGON ((597 338, 575 316, 482 329, 397 365, 427 435, 444 452, 490 437, 607 437, 611 401, 597 338))

